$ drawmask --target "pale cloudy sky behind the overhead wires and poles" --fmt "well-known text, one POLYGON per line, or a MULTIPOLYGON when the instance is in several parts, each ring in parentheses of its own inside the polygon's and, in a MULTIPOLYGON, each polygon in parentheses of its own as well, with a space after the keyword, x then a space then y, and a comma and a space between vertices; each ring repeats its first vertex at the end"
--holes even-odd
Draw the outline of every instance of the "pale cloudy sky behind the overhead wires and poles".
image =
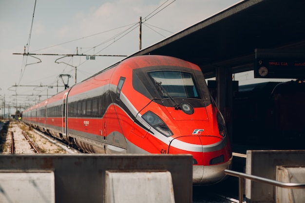
MULTIPOLYGON (((62 78, 66 83, 68 77, 60 78, 60 74, 71 75, 71 86, 75 73, 80 82, 124 58, 95 56, 90 60, 64 55, 137 52, 140 17, 143 49, 237 2, 240 0, 0 0, 0 115, 4 100, 5 113, 8 106, 15 106, 12 113, 61 92, 62 78)), ((253 78, 251 73, 237 77, 245 84, 253 78)))

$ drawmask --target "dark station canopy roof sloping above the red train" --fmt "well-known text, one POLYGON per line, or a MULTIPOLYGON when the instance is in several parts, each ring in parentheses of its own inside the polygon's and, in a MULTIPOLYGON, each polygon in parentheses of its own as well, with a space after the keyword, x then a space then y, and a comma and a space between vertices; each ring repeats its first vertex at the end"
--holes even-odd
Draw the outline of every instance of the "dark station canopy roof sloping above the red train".
MULTIPOLYGON (((255 49, 305 50, 305 0, 244 0, 131 55, 171 55, 232 73, 253 70, 255 49)), ((178 22, 177 22, 178 23, 178 22)))

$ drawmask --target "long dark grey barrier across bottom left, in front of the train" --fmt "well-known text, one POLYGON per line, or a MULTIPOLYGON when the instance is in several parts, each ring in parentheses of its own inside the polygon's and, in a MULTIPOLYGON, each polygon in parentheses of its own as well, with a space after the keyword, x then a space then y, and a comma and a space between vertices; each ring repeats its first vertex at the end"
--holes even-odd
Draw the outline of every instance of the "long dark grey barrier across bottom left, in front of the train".
MULTIPOLYGON (((138 184, 147 183, 145 173, 151 173, 156 184, 165 184, 158 178, 159 175, 167 177, 169 187, 172 181, 174 202, 192 203, 192 156, 153 154, 0 155, 0 198, 3 203, 26 203, 24 200, 27 200, 27 196, 38 193, 38 200, 43 200, 38 202, 105 203, 106 199, 111 200, 107 196, 111 193, 106 194, 106 174, 118 177, 119 173, 127 177, 124 184, 130 187, 136 184, 134 181, 131 182, 134 174, 142 176, 138 184), (6 178, 9 173, 15 180, 25 177, 24 182, 18 184, 17 181, 15 186, 9 187, 13 183, 10 181, 12 179, 6 178), (18 201, 20 197, 22 201, 18 201)), ((117 178, 112 177, 108 180, 117 178)), ((166 198, 171 198, 171 194, 165 196, 168 190, 161 191, 160 188, 160 185, 159 188, 158 185, 151 185, 148 189, 152 189, 152 193, 161 192, 165 200, 170 200, 166 198)), ((112 194, 117 195, 116 189, 117 185, 112 185, 112 194)))

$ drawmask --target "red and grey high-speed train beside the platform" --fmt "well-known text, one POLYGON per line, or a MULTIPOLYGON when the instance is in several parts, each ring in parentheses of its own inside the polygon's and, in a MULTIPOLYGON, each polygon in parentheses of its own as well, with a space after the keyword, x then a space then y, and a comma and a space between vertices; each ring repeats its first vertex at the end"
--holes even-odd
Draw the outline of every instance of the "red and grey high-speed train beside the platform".
POLYGON ((170 56, 127 58, 22 116, 89 153, 191 154, 194 184, 221 181, 232 160, 200 68, 170 56))

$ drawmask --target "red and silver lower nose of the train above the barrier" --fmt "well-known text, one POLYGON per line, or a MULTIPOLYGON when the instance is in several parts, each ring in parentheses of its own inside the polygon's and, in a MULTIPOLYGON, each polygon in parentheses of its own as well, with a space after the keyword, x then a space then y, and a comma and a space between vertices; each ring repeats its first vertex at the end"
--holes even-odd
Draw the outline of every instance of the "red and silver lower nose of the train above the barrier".
POLYGON ((225 177, 231 157, 224 140, 215 136, 183 136, 174 139, 169 153, 193 156, 193 184, 210 184, 225 177))

